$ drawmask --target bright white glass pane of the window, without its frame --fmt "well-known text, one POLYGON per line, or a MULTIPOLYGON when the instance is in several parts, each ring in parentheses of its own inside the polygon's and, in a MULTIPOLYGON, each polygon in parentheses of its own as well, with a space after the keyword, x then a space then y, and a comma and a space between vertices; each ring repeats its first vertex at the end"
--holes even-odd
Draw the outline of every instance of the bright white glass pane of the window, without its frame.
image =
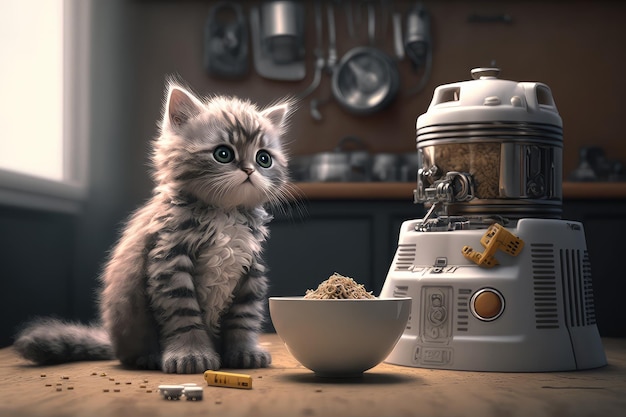
POLYGON ((63 180, 63 0, 0 2, 0 167, 63 180))

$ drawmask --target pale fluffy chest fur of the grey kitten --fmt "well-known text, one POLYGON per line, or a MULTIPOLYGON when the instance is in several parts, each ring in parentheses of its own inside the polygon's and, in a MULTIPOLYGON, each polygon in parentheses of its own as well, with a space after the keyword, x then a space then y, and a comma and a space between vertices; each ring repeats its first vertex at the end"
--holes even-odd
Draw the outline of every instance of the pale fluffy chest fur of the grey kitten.
POLYGON ((199 202, 164 201, 160 212, 165 214, 150 225, 155 239, 147 255, 171 259, 159 263, 161 268, 191 264, 193 290, 203 321, 207 328, 218 329, 237 284, 261 254, 271 217, 263 208, 223 209, 199 202))

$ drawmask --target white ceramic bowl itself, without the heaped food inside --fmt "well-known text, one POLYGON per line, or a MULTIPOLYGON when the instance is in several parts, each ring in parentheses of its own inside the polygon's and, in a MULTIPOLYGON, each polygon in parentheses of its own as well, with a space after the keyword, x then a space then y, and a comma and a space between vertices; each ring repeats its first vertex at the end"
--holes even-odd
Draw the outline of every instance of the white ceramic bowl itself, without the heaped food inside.
POLYGON ((391 353, 411 298, 270 297, 270 317, 289 352, 318 376, 355 377, 391 353))

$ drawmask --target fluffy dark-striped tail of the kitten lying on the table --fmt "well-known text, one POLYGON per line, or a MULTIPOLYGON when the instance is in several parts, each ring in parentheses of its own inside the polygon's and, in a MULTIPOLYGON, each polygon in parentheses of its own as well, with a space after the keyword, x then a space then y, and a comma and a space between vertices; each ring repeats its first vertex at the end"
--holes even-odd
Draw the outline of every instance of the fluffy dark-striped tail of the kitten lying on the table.
POLYGON ((37 319, 20 331, 13 344, 37 365, 114 359, 107 332, 98 326, 37 319))

